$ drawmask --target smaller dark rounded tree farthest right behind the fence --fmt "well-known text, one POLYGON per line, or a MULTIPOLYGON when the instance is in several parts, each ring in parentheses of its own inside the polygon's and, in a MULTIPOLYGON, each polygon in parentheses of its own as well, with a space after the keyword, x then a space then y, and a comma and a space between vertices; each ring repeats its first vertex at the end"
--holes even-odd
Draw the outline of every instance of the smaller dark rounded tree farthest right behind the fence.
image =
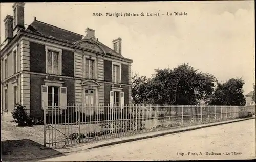
POLYGON ((225 83, 217 82, 217 88, 210 96, 209 105, 227 105, 227 106, 244 106, 245 97, 243 95, 243 85, 245 84, 242 78, 231 78, 225 83))

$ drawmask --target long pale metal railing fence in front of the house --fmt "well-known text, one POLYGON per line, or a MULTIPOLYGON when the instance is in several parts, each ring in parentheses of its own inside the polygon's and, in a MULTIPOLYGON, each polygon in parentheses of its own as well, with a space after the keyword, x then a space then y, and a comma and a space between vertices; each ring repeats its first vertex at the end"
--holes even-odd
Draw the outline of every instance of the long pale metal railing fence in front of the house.
POLYGON ((65 146, 238 118, 244 107, 124 105, 44 109, 44 145, 65 146))

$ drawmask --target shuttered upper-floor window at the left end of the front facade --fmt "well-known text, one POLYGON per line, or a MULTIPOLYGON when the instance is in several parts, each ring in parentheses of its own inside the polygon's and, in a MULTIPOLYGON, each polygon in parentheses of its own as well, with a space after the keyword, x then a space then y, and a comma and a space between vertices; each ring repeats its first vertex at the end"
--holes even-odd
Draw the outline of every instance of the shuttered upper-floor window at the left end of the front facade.
POLYGON ((46 47, 46 71, 48 74, 61 75, 61 55, 62 50, 53 47, 46 47))

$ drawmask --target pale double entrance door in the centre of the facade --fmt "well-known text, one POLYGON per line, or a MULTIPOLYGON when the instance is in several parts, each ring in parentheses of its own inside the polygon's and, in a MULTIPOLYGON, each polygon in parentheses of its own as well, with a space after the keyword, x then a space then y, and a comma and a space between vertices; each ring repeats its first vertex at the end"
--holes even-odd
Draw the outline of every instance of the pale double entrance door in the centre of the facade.
POLYGON ((86 109, 84 109, 86 114, 92 115, 95 110, 95 91, 90 89, 84 90, 84 106, 86 109))

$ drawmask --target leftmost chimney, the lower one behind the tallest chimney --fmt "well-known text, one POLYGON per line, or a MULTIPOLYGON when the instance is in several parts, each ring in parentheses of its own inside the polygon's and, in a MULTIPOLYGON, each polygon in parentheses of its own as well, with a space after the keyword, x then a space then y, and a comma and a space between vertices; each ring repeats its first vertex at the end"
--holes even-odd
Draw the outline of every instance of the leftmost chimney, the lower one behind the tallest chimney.
POLYGON ((5 24, 5 42, 9 43, 13 38, 13 16, 7 15, 4 19, 5 24))

